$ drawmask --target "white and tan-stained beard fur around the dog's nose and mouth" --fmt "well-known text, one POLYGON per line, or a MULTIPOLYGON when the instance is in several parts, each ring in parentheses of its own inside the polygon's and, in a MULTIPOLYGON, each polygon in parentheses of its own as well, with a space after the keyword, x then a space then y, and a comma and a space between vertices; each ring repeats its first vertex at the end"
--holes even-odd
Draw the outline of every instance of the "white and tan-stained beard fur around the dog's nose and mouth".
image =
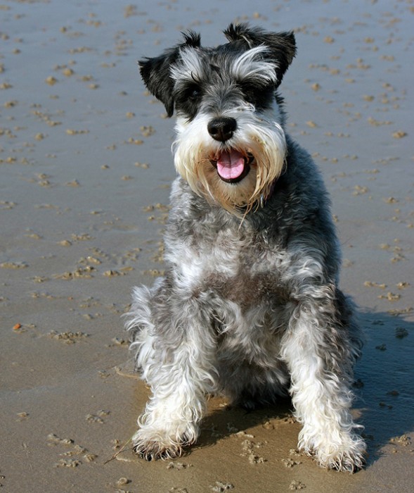
POLYGON ((254 106, 243 103, 222 111, 221 116, 235 118, 238 122, 237 130, 226 142, 226 147, 250 151, 257 161, 260 160, 257 165, 257 176, 250 173, 252 176, 242 184, 246 187, 245 194, 240 187, 233 187, 220 180, 214 181, 213 188, 212 183, 205 179, 206 168, 212 166, 209 159, 214 158, 224 146, 209 135, 207 125, 212 116, 202 110, 190 122, 183 117, 177 118, 177 139, 173 144, 176 170, 199 195, 216 200, 217 187, 219 187, 233 205, 252 204, 261 194, 269 192, 266 187, 283 170, 286 142, 285 132, 276 120, 278 112, 267 111, 258 115, 254 106), (195 173, 195 170, 198 172, 195 173), (265 173, 264 177, 260 173, 265 173), (242 204, 238 202, 240 197, 245 197, 242 204))

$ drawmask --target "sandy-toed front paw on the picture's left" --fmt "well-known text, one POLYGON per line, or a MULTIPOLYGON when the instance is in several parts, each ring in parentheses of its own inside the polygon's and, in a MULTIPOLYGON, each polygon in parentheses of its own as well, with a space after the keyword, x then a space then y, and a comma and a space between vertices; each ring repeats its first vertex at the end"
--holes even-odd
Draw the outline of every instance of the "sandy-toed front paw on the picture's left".
POLYGON ((183 437, 177 440, 165 432, 154 432, 140 429, 132 437, 134 452, 147 461, 158 458, 167 460, 177 458, 183 454, 183 447, 190 445, 190 441, 183 437))

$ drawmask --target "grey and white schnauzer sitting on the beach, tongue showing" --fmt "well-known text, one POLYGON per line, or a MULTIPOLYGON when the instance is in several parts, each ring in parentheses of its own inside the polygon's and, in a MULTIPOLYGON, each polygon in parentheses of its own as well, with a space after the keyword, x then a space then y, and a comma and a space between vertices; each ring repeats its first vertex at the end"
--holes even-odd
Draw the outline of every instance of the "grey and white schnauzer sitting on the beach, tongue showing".
POLYGON ((340 251, 321 175, 285 132, 278 87, 293 32, 231 24, 139 61, 176 113, 164 235, 166 270, 134 288, 127 314, 136 369, 151 389, 132 441, 175 458, 199 436, 209 394, 253 410, 290 394, 298 448, 354 472, 366 445, 350 407, 363 337, 338 287, 340 251))

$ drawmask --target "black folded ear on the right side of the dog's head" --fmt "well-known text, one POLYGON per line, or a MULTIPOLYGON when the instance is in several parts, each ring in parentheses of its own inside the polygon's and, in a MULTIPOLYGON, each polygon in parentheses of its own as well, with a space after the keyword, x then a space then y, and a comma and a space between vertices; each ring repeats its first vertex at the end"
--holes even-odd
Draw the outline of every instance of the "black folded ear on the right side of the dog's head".
POLYGON ((290 32, 269 32, 261 27, 250 27, 247 24, 231 24, 224 31, 230 42, 245 44, 246 49, 265 45, 269 48, 269 56, 277 64, 276 75, 278 85, 282 82, 293 57, 296 55, 295 35, 290 32))

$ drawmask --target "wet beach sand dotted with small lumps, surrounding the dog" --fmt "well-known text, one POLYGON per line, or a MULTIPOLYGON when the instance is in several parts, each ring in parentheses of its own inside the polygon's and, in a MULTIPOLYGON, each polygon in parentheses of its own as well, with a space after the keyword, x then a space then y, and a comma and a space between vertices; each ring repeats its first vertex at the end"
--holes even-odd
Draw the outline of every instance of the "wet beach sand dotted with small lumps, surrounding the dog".
POLYGON ((411 492, 413 1, 0 0, 0 19, 1 491, 411 492), (367 335, 355 475, 297 454, 289 402, 245 414, 212 399, 177 461, 129 447, 148 389, 121 316, 162 272, 175 175, 173 121, 136 60, 188 28, 224 42, 235 20, 297 35, 288 130, 323 170, 367 335))

